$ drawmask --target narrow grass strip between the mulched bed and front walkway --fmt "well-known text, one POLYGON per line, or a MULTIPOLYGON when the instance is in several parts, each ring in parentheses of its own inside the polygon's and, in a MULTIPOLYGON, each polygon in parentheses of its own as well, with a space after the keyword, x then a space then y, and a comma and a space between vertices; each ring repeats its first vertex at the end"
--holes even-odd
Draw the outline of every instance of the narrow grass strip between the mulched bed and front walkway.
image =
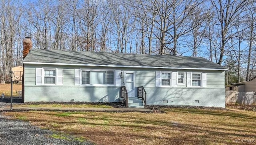
POLYGON ((17 104, 15 107, 82 107, 82 108, 112 108, 108 105, 93 105, 93 104, 17 104))

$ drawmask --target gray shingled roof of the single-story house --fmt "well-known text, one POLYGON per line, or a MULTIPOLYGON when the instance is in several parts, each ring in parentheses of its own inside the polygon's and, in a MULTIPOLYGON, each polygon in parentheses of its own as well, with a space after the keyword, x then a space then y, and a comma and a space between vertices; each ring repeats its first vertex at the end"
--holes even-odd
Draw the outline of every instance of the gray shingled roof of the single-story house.
POLYGON ((39 49, 31 50, 23 62, 226 69, 201 57, 39 49))

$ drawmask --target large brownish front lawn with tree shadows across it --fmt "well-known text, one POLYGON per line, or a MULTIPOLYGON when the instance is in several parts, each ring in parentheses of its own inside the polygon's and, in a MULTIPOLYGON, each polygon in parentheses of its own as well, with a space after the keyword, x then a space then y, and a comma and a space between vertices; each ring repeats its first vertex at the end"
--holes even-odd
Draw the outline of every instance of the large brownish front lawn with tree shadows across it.
MULTIPOLYGON (((4 112, 41 128, 64 131, 100 145, 235 144, 255 140, 256 112, 162 109, 140 112, 4 112)), ((58 136, 57 136, 58 137, 58 136)))

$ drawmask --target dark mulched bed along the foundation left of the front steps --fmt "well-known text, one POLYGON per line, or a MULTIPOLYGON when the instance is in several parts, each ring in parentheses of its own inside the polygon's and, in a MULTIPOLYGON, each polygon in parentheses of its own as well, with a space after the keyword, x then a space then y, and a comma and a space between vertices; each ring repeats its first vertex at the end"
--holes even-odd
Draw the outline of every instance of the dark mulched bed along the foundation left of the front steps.
POLYGON ((26 105, 38 105, 38 104, 71 104, 71 105, 80 105, 80 104, 89 104, 89 105, 108 105, 114 108, 126 108, 121 102, 26 102, 21 103, 26 105))

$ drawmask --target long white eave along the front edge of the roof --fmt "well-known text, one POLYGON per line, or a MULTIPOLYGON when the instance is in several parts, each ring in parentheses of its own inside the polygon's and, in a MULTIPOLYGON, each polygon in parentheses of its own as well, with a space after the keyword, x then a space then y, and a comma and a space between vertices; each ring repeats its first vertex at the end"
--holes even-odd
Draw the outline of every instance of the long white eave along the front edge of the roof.
POLYGON ((62 66, 99 66, 99 67, 119 67, 119 68, 157 68, 157 69, 179 69, 179 70, 221 70, 225 68, 176 68, 176 67, 161 67, 161 66, 122 66, 122 65, 105 65, 105 64, 66 64, 52 62, 23 62, 23 64, 44 64, 44 65, 62 65, 62 66))

